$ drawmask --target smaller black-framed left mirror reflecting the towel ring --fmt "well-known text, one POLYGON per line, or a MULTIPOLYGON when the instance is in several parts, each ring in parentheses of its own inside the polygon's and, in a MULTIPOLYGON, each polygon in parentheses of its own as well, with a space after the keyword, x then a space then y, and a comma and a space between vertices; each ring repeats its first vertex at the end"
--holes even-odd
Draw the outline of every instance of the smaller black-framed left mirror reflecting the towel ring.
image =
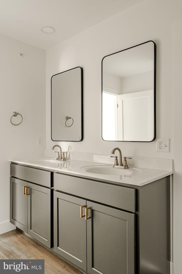
POLYGON ((72 68, 51 77, 51 139, 83 140, 83 69, 72 68))

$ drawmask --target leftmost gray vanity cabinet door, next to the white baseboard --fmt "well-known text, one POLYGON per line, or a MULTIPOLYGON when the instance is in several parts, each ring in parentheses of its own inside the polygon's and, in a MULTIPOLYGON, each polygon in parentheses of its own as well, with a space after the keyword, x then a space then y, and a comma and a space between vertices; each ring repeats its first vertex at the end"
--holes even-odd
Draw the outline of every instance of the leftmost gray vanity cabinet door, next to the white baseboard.
POLYGON ((27 182, 10 178, 10 222, 27 233, 27 182))

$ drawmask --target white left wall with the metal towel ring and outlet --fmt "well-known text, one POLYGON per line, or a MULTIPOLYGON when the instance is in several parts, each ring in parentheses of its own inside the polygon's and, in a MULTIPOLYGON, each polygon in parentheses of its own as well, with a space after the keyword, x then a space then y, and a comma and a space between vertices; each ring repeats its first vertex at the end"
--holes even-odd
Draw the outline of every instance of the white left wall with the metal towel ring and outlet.
MULTIPOLYGON (((0 234, 14 227, 9 223, 8 160, 44 155, 45 57, 42 49, 0 35, 0 234), (23 58, 18 56, 20 52, 24 54, 23 58), (18 126, 10 123, 14 111, 23 116, 18 126), (42 137, 42 146, 37 146, 37 137, 42 137)), ((18 116, 16 118, 14 122, 18 121, 18 116)))

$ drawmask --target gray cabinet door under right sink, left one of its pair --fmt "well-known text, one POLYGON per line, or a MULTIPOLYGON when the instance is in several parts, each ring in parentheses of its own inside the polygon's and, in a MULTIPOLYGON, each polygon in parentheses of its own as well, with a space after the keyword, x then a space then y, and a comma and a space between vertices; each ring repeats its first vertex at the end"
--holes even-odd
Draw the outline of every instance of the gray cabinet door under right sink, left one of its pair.
POLYGON ((54 191, 54 251, 86 271, 86 200, 54 191))

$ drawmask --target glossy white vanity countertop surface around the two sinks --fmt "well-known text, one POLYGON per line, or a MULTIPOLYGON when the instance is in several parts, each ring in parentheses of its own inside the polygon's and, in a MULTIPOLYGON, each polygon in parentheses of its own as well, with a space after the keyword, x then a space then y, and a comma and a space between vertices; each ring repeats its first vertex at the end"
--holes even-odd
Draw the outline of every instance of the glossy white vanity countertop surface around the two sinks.
MULTIPOLYGON (((86 172, 84 170, 81 170, 83 166, 98 166, 98 165, 108 165, 112 166, 110 164, 103 164, 103 163, 96 163, 96 162, 82 162, 82 161, 76 161, 76 160, 67 160, 64 162, 65 167, 62 168, 62 161, 57 161, 58 164, 60 164, 59 167, 55 167, 53 164, 37 164, 30 162, 31 160, 34 161, 34 159, 37 158, 30 158, 30 159, 18 159, 18 160, 9 160, 10 162, 14 162, 17 164, 24 164, 32 167, 39 167, 39 168, 45 168, 49 170, 54 170, 55 172, 60 172, 62 174, 70 174, 75 175, 79 177, 89 177, 95 179, 101 179, 106 180, 107 182, 115 182, 115 183, 122 183, 122 184, 130 184, 135 186, 143 186, 146 184, 149 184, 151 182, 154 182, 156 180, 159 180, 161 178, 164 178, 166 176, 169 176, 173 174, 172 171, 166 171, 166 170, 154 170, 149 168, 140 168, 140 173, 138 174, 130 174, 128 176, 123 175, 102 175, 102 174, 95 174, 86 172), (65 168, 65 169, 64 169, 65 168)), ((44 159, 44 158, 43 158, 44 159)), ((130 168, 130 166, 129 166, 130 168)), ((135 167, 132 167, 135 168, 135 167)))

